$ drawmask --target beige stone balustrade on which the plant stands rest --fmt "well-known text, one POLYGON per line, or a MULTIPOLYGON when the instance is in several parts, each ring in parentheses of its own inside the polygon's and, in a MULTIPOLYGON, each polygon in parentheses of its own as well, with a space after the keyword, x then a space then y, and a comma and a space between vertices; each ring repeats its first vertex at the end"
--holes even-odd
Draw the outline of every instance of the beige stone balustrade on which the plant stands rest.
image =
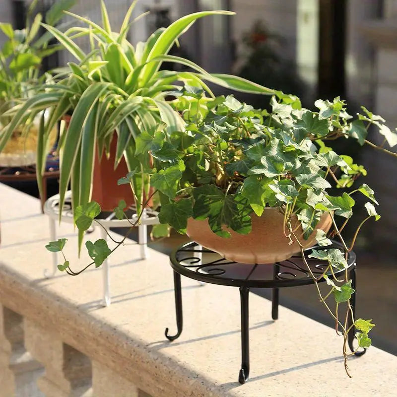
MULTIPOLYGON (((397 357, 372 347, 349 362, 330 328, 250 295, 251 379, 237 382, 236 288, 183 279, 184 331, 176 331, 168 258, 128 243, 112 256, 112 305, 102 307, 101 269, 46 279, 48 219, 39 201, 0 184, 0 397, 395 396, 397 357)), ((75 255, 68 224, 66 256, 75 255)), ((100 238, 99 231, 89 236, 100 238)), ((358 266, 359 267, 359 266, 358 266)), ((316 299, 313 290, 313 299, 316 299)), ((376 313, 373 313, 376 316, 376 313)))

